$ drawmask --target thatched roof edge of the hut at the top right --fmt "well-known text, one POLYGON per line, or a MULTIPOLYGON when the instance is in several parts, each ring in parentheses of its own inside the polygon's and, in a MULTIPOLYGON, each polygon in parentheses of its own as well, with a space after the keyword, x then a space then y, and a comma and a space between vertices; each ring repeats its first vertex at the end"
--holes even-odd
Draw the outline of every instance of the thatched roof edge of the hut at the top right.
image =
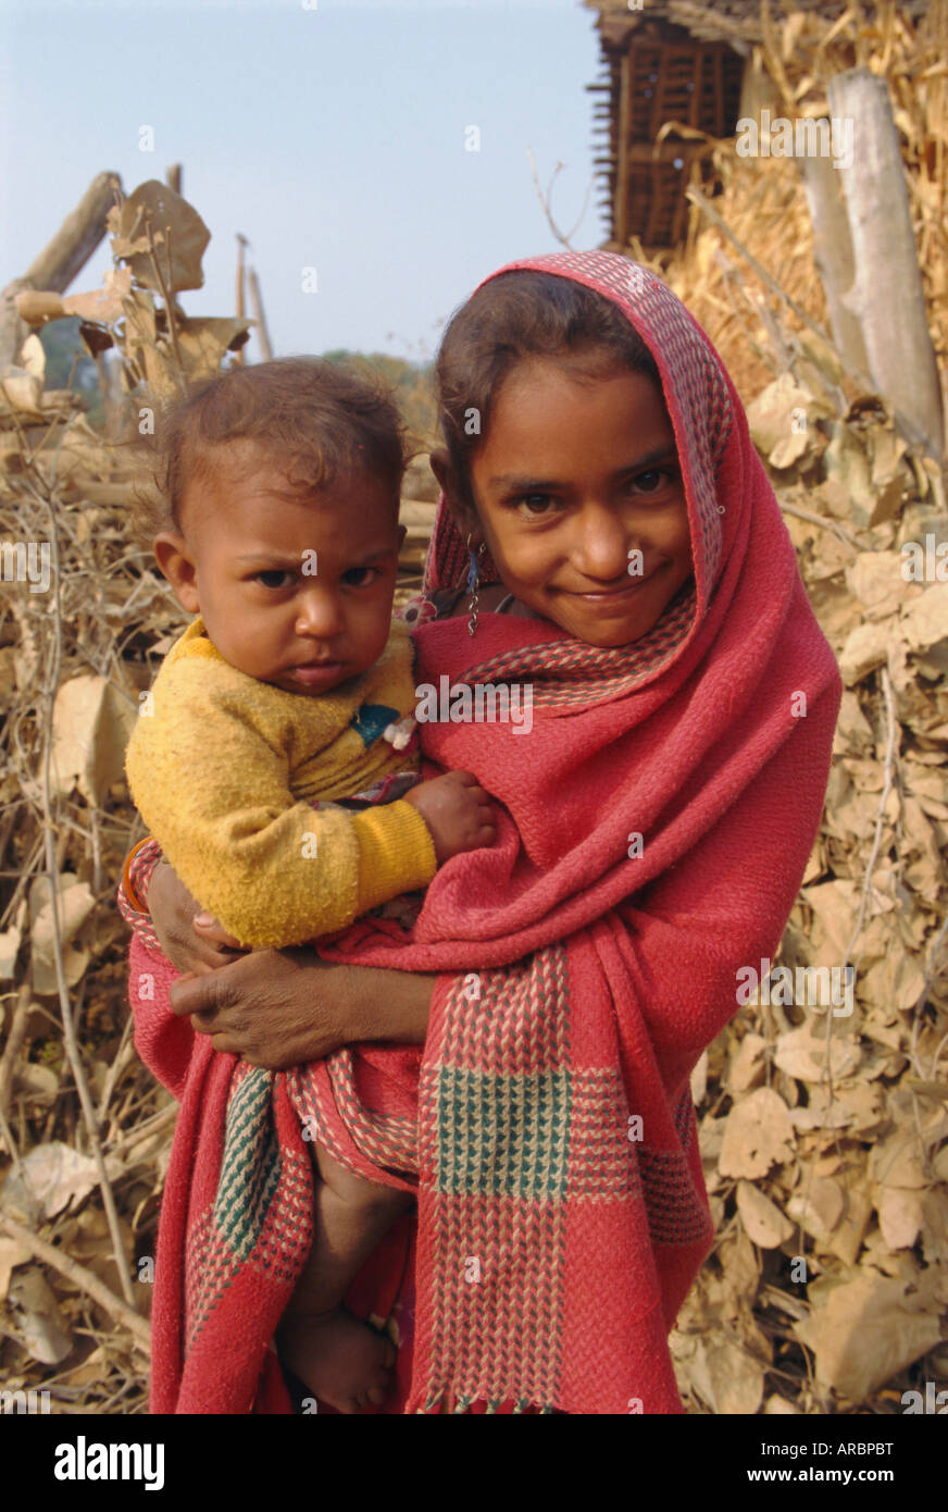
MULTIPOLYGON (((703 42, 730 42, 738 51, 747 51, 753 42, 761 42, 761 0, 721 0, 718 5, 700 5, 697 0, 644 0, 641 11, 629 11, 626 0, 582 0, 590 11, 599 12, 597 27, 605 45, 623 42, 630 32, 647 21, 665 21, 682 26, 703 42)), ((844 0, 794 0, 794 11, 818 11, 836 20, 847 9, 844 0)), ((874 6, 866 5, 868 11, 874 6)), ((928 9, 928 0, 901 0, 903 15, 918 20, 928 9)), ((779 0, 771 3, 774 24, 780 24, 786 12, 779 0)))

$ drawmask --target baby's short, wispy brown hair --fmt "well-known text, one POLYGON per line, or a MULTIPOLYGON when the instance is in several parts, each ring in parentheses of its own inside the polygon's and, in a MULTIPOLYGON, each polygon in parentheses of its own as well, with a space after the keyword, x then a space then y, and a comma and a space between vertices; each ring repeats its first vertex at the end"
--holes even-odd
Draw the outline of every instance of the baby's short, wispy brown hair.
POLYGON ((381 478, 398 514, 405 428, 384 380, 319 357, 278 357, 218 373, 159 411, 142 442, 159 494, 135 500, 142 535, 181 529, 187 484, 233 442, 257 443, 293 493, 325 488, 342 472, 381 478))

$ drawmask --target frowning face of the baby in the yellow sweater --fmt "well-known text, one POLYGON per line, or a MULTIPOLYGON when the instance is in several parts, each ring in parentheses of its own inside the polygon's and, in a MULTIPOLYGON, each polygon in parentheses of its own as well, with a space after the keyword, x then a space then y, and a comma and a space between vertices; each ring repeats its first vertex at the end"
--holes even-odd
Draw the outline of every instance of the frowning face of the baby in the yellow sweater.
POLYGON ((378 661, 404 532, 376 478, 339 476, 299 499, 274 461, 242 443, 221 451, 210 478, 192 479, 181 517, 194 576, 178 597, 231 667, 319 694, 378 661))

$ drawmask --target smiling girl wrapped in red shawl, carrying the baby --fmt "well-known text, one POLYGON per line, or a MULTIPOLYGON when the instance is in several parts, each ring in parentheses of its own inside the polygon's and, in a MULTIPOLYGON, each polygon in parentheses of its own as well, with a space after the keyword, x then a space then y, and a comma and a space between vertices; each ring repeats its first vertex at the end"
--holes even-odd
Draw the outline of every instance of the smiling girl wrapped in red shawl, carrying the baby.
MULTIPOLYGON (((266 1086, 287 1155, 305 1110, 352 1170, 417 1185, 407 1247, 351 1294, 398 1326, 390 1411, 680 1412, 667 1334, 712 1238, 689 1074, 783 933, 839 674, 736 392, 652 274, 606 253, 500 269, 449 324, 438 387, 416 677, 529 682, 534 724, 431 723, 422 747, 491 794, 497 841, 441 868, 408 943, 360 922, 316 963, 225 965, 139 1022, 204 1034, 195 1066, 206 1046, 292 1066, 215 1083, 216 1107, 231 1080, 266 1086), (249 1027, 265 981, 289 1054, 249 1027), (405 1039, 411 1001, 423 1043, 387 1090, 367 992, 398 995, 405 1039)), ((180 930, 169 895, 157 922, 180 930)), ((210 1113, 180 1139, 178 1170, 227 1158, 210 1113)), ((181 1255, 181 1205, 162 1222, 181 1255)), ((257 1293, 262 1326, 284 1296, 257 1293)), ((213 1306, 219 1338, 233 1308, 213 1306)), ((165 1411, 213 1390, 215 1338, 183 1361, 180 1338, 156 1335, 165 1411)), ((212 1411, 280 1409, 263 1355, 242 1365, 212 1411)))

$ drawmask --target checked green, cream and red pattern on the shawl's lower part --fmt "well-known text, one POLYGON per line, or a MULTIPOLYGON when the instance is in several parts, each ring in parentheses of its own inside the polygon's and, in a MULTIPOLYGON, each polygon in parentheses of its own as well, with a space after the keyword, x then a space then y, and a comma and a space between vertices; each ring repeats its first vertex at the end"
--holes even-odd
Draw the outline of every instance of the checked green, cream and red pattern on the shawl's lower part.
MULTIPOLYGON (((643 1202, 655 1243, 709 1234, 688 1170, 691 1098, 674 1111, 682 1149, 627 1139, 617 1067, 578 1067, 570 1051, 567 953, 549 945, 510 968, 458 975, 435 1061, 422 1072, 419 1120, 372 1113, 358 1099, 352 1057, 327 1058, 336 1113, 376 1166, 420 1172, 438 1234, 425 1411, 451 1394, 455 1411, 514 1399, 558 1400, 565 1305, 565 1234, 578 1204, 643 1202), (476 1285, 470 1266, 476 1263, 476 1285)), ((243 1266, 289 1284, 311 1243, 305 1157, 281 1149, 272 1120, 286 1078, 311 1137, 336 1148, 308 1067, 274 1075, 240 1066, 227 1107, 218 1193, 187 1243, 186 1350, 243 1266)), ((358 1173, 358 1172, 357 1172, 358 1173)))

